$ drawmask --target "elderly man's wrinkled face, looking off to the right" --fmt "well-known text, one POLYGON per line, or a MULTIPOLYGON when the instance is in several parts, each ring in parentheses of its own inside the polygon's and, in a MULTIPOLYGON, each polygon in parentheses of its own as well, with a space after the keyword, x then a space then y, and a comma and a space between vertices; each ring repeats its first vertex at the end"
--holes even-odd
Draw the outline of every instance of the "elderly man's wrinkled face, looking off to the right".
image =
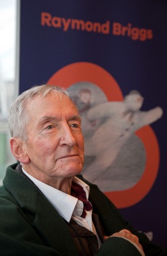
POLYGON ((29 116, 24 151, 30 161, 23 168, 42 182, 53 177, 73 177, 83 167, 83 135, 75 105, 51 91, 27 106, 29 116))

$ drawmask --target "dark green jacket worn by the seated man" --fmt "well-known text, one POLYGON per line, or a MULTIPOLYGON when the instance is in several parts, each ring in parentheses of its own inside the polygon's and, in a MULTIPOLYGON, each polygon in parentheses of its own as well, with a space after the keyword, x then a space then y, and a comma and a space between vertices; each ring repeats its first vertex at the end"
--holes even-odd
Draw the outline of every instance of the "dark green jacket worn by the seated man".
MULTIPOLYGON (((64 219, 35 184, 15 170, 17 164, 7 168, 0 188, 0 255, 78 256, 64 219)), ((84 182, 90 186, 89 200, 106 235, 126 228, 137 234, 146 255, 167 255, 144 234, 136 233, 96 185, 84 182)), ((129 241, 118 237, 107 239, 97 255, 141 256, 129 241)))

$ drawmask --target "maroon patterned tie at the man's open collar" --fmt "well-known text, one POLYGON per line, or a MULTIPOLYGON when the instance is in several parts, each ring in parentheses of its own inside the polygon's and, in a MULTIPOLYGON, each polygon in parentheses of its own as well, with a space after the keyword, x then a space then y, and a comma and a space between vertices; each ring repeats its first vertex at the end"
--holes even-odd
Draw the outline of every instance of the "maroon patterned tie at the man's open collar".
POLYGON ((86 211, 92 210, 92 204, 86 199, 86 192, 83 190, 83 187, 79 185, 78 183, 72 182, 71 186, 71 195, 73 197, 78 198, 80 201, 83 202, 83 212, 81 217, 85 218, 86 217, 86 211))

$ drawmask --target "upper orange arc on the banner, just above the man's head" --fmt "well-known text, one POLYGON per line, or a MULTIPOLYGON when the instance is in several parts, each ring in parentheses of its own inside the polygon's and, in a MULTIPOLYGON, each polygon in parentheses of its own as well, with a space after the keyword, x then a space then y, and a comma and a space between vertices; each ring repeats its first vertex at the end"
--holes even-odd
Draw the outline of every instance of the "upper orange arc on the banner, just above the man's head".
POLYGON ((102 67, 89 63, 72 63, 58 70, 48 80, 49 84, 68 88, 79 81, 89 81, 99 86, 109 101, 122 101, 123 96, 117 81, 102 67))

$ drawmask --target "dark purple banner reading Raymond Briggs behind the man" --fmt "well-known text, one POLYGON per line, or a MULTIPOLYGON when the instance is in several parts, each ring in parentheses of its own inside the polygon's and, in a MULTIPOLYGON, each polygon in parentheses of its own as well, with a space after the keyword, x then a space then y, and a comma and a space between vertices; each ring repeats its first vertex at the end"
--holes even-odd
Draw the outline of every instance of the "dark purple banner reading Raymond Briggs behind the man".
POLYGON ((83 177, 166 247, 165 1, 20 1, 20 93, 66 87, 82 117, 83 177))

